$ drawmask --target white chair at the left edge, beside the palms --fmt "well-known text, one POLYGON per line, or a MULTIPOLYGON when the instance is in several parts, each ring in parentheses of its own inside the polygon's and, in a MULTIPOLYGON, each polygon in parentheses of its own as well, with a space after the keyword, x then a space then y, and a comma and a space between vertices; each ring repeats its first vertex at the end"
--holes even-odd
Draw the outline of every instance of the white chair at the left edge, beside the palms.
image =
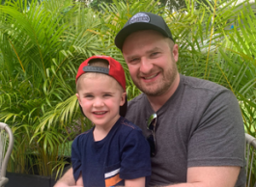
POLYGON ((11 128, 3 122, 0 122, 0 187, 8 182, 6 169, 11 152, 14 147, 14 135, 11 128))

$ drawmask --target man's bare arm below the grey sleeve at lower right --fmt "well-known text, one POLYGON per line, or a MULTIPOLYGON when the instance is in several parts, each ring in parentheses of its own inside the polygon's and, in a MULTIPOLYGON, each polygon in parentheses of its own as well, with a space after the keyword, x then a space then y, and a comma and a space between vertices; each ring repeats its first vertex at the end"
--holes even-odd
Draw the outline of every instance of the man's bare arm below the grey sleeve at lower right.
POLYGON ((191 167, 187 169, 187 183, 168 187, 234 187, 241 167, 191 167))

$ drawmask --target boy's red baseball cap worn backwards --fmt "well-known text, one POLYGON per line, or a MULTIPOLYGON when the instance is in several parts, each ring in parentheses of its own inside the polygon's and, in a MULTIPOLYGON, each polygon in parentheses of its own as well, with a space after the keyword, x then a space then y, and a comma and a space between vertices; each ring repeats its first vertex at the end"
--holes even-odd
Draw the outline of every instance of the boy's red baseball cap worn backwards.
MULTIPOLYGON (((125 75, 125 70, 122 67, 122 65, 117 62, 115 59, 108 57, 108 56, 93 56, 84 61, 80 67, 77 70, 77 74, 75 77, 75 84, 77 83, 77 79, 84 73, 86 72, 100 72, 103 74, 107 74, 114 79, 122 86, 124 91, 126 92, 126 75, 125 75), (93 59, 103 59, 106 60, 109 64, 108 67, 93 67, 90 66, 90 61, 93 59)), ((127 114, 127 108, 128 108, 128 99, 126 97, 126 102, 123 106, 120 106, 119 114, 122 117, 125 117, 127 114)), ((83 113, 83 110, 80 106, 81 112, 83 113)), ((85 116, 85 115, 84 115, 85 116)))

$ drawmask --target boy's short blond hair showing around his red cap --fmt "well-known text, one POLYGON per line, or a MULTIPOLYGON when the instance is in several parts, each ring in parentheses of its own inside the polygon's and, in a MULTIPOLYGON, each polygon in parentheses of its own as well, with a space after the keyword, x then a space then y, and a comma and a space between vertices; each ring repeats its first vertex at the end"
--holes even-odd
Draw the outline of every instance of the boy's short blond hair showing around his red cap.
MULTIPOLYGON (((107 60, 104 60, 104 59, 92 59, 89 63, 88 63, 88 66, 91 66, 91 67, 106 67, 108 68, 109 67, 109 63, 107 62, 107 60)), ((108 76, 106 74, 103 74, 103 73, 100 73, 100 72, 85 72, 83 73, 76 81, 76 93, 78 93, 79 91, 79 85, 80 85, 80 80, 82 78, 85 78, 85 77, 88 77, 88 75, 92 75, 92 74, 95 74, 96 76, 108 76)), ((110 76, 111 77, 111 76, 110 76)), ((113 77, 111 77, 113 78, 113 77)), ((113 80, 115 80, 118 85, 121 87, 121 91, 125 92, 123 87, 119 84, 119 82, 113 78, 113 80)))

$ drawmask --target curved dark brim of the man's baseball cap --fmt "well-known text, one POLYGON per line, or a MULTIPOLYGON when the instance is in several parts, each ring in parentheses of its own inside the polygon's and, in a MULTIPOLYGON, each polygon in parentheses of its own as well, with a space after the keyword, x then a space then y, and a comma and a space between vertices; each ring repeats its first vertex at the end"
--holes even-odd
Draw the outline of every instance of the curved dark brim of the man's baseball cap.
POLYGON ((130 24, 126 27, 124 27, 116 36, 115 38, 115 44, 116 46, 122 50, 123 48, 123 44, 125 42, 125 40, 128 38, 128 36, 131 33, 134 33, 136 31, 141 31, 141 30, 155 30, 159 33, 161 33, 163 36, 168 37, 167 33, 161 29, 160 27, 151 24, 149 22, 138 22, 138 23, 133 23, 130 24))

